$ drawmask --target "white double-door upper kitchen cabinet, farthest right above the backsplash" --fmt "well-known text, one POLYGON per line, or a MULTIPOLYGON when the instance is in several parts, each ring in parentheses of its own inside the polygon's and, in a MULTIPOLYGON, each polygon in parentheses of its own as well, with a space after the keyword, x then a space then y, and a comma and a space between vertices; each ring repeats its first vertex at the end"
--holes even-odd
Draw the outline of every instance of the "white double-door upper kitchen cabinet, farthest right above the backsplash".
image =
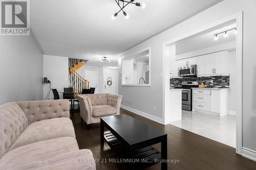
POLYGON ((205 55, 205 75, 226 74, 226 51, 205 55))

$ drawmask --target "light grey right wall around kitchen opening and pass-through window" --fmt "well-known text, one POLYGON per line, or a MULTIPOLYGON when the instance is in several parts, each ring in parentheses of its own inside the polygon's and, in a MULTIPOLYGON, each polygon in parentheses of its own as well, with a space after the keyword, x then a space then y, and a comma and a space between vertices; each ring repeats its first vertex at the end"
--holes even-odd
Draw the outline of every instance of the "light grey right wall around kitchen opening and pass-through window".
MULTIPOLYGON (((213 22, 244 11, 243 16, 243 147, 255 151, 256 155, 256 1, 225 0, 179 25, 154 36, 139 45, 125 51, 120 57, 129 56, 151 46, 151 87, 120 86, 119 93, 123 100, 135 102, 135 109, 152 116, 162 118, 162 44, 184 34, 201 29, 213 22), (152 107, 156 106, 156 112, 152 107)), ((118 62, 121 72, 121 60, 118 62)))

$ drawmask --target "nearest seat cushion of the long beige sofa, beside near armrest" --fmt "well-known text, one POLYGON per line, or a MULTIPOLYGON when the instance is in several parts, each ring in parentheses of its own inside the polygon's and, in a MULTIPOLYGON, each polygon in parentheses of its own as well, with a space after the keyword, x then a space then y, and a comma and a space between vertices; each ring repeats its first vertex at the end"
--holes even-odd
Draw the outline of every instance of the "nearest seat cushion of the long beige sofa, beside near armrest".
POLYGON ((35 161, 44 161, 60 154, 79 150, 73 137, 60 137, 24 145, 6 153, 0 160, 0 169, 14 168, 35 161))

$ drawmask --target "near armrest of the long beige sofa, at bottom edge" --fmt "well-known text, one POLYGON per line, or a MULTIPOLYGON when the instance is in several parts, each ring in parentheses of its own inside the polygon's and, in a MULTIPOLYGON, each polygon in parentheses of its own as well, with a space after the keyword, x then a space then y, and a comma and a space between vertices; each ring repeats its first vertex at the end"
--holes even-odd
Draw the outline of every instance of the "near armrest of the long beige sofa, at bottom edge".
POLYGON ((28 164, 20 165, 18 167, 9 170, 55 170, 55 169, 84 169, 84 170, 96 170, 93 154, 90 150, 83 149, 68 152, 47 159, 45 161, 36 161, 28 164))

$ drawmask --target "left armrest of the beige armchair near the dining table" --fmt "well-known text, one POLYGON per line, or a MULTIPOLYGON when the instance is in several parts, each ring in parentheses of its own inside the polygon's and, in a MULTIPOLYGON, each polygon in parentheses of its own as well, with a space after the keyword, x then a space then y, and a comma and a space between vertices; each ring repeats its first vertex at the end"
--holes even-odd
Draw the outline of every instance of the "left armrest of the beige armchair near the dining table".
POLYGON ((93 116, 93 108, 91 100, 88 96, 81 94, 77 95, 80 105, 80 116, 86 121, 87 124, 91 124, 91 117, 93 116))

